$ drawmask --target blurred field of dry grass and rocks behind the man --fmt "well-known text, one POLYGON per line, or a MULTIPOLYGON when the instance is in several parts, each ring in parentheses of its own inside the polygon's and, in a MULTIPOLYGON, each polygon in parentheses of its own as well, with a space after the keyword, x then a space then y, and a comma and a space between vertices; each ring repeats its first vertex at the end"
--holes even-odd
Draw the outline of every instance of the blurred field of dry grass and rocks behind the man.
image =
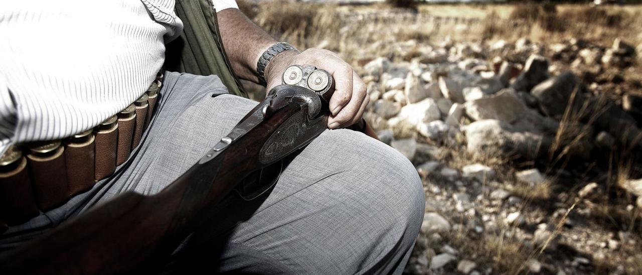
POLYGON ((426 191, 407 273, 642 274, 640 1, 238 3, 368 85, 426 191))

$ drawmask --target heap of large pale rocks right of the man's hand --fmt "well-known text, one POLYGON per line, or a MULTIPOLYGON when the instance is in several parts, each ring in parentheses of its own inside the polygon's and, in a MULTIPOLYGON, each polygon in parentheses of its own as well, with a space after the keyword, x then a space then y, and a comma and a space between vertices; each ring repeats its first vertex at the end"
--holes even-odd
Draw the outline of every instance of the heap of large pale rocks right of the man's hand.
POLYGON ((555 58, 596 63, 600 70, 629 66, 636 56, 636 49, 621 40, 609 49, 578 41, 542 48, 526 39, 487 47, 453 42, 426 46, 411 62, 381 57, 363 66, 370 96, 365 118, 411 160, 421 143, 525 159, 562 150, 569 157, 587 158, 616 145, 642 148, 636 121, 640 98, 627 95, 623 110, 592 96, 576 73, 560 71, 539 54, 546 51, 554 51, 555 58), (499 58, 492 63, 482 59, 492 55, 499 58))

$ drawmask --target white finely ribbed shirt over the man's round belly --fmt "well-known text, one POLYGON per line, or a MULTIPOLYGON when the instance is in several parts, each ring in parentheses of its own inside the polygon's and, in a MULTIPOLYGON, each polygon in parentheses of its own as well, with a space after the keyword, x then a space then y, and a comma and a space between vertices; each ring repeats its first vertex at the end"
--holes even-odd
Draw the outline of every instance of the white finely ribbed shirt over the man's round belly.
POLYGON ((0 154, 91 129, 124 109, 183 26, 174 0, 0 3, 0 154))

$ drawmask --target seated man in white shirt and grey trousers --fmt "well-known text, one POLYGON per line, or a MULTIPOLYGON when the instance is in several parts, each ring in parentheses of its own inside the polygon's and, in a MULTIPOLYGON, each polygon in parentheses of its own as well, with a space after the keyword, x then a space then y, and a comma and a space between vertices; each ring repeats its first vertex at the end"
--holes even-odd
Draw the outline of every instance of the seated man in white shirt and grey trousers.
MULTIPOLYGON (((10 145, 74 136, 126 109, 161 69, 164 44, 182 31, 171 0, 3 6, 0 152, 10 145)), ((233 0, 214 0, 213 6, 240 78, 257 83, 265 78, 269 91, 292 64, 333 75, 331 130, 288 158, 268 194, 225 204, 158 271, 401 273, 421 226, 424 193, 403 155, 342 129, 361 119, 369 100, 359 76, 331 51, 299 52, 277 43, 233 0), (278 53, 259 60, 268 49, 278 53)), ((9 226, 0 247, 20 245, 123 191, 162 190, 257 104, 227 94, 216 75, 165 72, 159 96, 139 143, 114 173, 62 206, 9 226)))

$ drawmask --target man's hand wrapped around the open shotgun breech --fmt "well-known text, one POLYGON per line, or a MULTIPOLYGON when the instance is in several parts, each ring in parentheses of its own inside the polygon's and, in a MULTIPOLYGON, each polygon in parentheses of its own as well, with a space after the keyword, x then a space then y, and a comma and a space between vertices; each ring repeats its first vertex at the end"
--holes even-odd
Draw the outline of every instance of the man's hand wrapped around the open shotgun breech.
POLYGON ((332 114, 327 121, 328 128, 348 127, 361 119, 370 101, 365 84, 349 64, 327 49, 309 48, 302 53, 284 51, 272 58, 265 68, 266 91, 281 85, 282 73, 292 65, 315 66, 333 76, 335 90, 329 103, 332 114))

